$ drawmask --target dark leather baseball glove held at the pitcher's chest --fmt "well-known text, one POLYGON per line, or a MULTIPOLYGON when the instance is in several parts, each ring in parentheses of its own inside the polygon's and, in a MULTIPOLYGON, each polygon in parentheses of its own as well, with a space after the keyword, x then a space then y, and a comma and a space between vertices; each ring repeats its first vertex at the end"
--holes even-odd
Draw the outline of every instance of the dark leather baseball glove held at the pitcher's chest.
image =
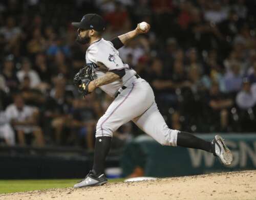
POLYGON ((89 66, 84 66, 74 76, 74 84, 77 86, 78 92, 82 93, 83 96, 90 94, 88 92, 88 85, 92 80, 92 69, 89 66))

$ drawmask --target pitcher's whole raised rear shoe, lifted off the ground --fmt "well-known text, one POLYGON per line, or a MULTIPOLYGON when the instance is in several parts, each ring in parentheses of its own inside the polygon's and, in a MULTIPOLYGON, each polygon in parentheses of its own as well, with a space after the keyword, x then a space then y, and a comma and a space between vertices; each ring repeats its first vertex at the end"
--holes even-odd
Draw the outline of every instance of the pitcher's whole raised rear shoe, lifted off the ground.
POLYGON ((233 155, 221 136, 215 136, 215 138, 211 141, 211 145, 212 152, 215 156, 219 157, 220 161, 224 165, 230 165, 232 163, 233 155))

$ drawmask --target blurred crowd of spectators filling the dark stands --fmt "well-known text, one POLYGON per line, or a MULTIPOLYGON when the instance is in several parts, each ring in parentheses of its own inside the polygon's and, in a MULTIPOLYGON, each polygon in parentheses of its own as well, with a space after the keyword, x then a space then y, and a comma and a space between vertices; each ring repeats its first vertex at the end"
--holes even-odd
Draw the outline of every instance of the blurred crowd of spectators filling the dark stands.
MULTIPOLYGON (((105 39, 151 24, 119 53, 150 82, 170 128, 255 131, 255 10, 250 0, 1 1, 0 141, 93 149, 113 99, 100 90, 82 98, 73 85, 87 47, 71 22, 86 13, 106 20, 105 39)), ((114 145, 137 134, 125 124, 114 145)))

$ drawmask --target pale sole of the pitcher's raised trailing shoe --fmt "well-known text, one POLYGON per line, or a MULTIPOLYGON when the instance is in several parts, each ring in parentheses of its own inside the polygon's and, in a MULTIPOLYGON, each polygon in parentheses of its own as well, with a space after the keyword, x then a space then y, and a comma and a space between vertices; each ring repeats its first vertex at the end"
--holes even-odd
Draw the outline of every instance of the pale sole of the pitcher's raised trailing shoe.
POLYGON ((220 160, 224 165, 230 165, 233 161, 233 155, 221 136, 215 136, 216 142, 221 146, 220 160))

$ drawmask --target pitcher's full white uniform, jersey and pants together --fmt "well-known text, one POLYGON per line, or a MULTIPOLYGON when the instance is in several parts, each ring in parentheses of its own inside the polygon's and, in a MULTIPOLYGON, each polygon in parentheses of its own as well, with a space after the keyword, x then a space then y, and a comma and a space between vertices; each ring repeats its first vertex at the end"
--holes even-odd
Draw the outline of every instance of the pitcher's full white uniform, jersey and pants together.
POLYGON ((150 84, 139 76, 134 76, 136 72, 122 62, 112 42, 101 38, 92 43, 86 52, 86 62, 93 69, 94 79, 112 70, 125 70, 121 79, 100 87, 115 99, 96 125, 96 138, 112 137, 113 132, 122 124, 132 120, 160 144, 177 145, 179 131, 169 129, 166 125, 157 108, 150 84))

